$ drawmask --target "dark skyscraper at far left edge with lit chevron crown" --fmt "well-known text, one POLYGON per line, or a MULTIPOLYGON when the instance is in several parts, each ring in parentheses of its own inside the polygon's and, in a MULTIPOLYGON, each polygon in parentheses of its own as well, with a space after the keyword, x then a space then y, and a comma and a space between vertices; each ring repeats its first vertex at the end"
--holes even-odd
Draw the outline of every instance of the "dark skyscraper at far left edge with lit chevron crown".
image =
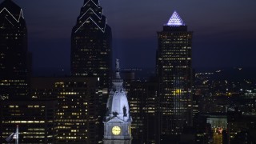
POLYGON ((22 9, 11 0, 0 4, 0 97, 24 99, 28 77, 27 30, 22 9))

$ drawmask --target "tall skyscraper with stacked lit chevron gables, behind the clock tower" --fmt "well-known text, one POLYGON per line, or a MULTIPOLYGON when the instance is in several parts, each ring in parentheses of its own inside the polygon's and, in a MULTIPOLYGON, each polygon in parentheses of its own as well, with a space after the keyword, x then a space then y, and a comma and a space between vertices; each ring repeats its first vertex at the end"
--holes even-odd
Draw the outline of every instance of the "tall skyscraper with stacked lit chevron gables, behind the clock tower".
POLYGON ((71 34, 71 73, 98 77, 107 88, 111 74, 110 26, 98 0, 85 0, 71 34))

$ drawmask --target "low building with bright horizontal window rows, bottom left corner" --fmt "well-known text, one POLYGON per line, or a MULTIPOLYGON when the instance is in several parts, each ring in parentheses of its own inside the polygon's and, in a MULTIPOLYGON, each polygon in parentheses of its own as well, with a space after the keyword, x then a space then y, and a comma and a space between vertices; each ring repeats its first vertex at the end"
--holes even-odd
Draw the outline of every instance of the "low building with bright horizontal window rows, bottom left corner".
POLYGON ((0 143, 19 127, 20 143, 56 143, 57 101, 0 102, 0 143))

